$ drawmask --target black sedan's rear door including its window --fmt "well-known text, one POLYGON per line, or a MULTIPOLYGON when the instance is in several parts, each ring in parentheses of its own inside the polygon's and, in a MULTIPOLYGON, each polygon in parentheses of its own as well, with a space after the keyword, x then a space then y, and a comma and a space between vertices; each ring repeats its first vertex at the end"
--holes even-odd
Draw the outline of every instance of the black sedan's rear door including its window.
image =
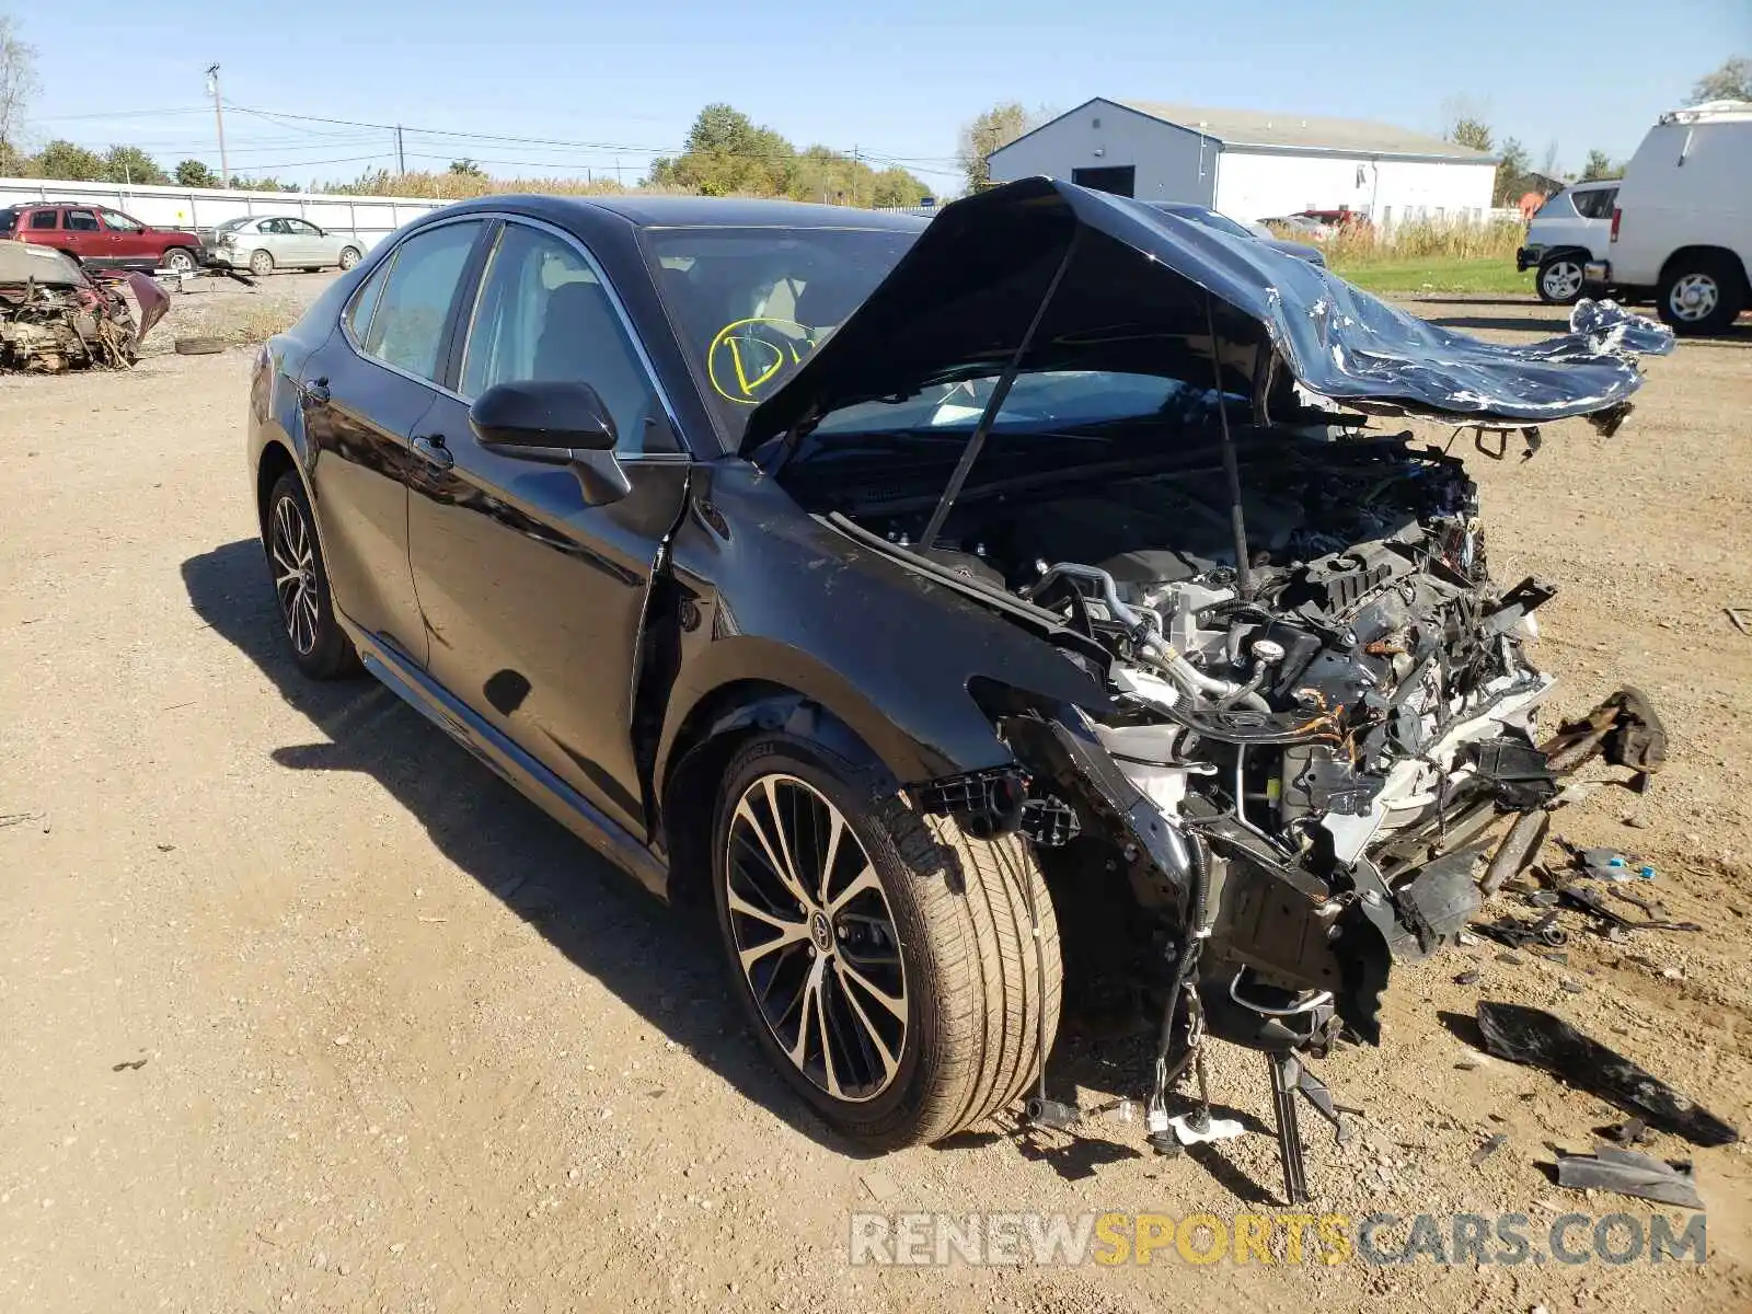
POLYGON ((484 219, 457 219, 403 238, 301 378, 335 604, 415 666, 427 645, 408 568, 408 443, 440 396, 454 307, 484 230, 484 219))

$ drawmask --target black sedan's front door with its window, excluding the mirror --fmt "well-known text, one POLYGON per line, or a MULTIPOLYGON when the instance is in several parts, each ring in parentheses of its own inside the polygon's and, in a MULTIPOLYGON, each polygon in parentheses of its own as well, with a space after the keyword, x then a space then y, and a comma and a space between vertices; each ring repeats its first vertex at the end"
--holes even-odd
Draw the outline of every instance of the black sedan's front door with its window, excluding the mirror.
POLYGON ((415 447, 408 552, 431 636, 427 669, 480 717, 629 830, 634 652, 652 568, 689 464, 596 263, 571 238, 506 223, 456 364, 415 447), (632 491, 587 506, 566 466, 475 442, 468 401, 494 384, 582 380, 618 433, 632 491))

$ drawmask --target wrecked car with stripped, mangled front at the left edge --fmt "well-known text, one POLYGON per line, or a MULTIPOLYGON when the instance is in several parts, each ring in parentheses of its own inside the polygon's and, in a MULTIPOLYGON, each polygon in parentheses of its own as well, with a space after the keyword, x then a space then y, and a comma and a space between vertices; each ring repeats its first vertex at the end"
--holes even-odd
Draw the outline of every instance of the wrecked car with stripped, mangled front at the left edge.
POLYGON ((60 251, 0 242, 0 370, 126 370, 168 308, 144 273, 89 275, 60 251))

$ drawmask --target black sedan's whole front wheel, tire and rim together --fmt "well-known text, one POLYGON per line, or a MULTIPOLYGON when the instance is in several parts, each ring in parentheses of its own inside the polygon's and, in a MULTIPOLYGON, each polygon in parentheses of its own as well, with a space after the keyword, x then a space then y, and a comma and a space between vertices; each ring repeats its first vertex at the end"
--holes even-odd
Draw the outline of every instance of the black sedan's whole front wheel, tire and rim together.
POLYGON ((953 820, 915 813, 867 767, 762 736, 724 776, 713 892, 732 988, 760 1049, 846 1137, 874 1149, 941 1141, 1037 1077, 1058 1030, 1063 971, 1051 897, 1021 836, 972 839, 953 820), (780 841, 774 851, 774 815, 792 839, 816 843, 794 855, 780 841), (816 881, 834 816, 823 899, 816 881), (808 908, 783 904, 781 864, 792 857, 808 908), (790 1020, 811 979, 822 983, 818 1011, 802 1030, 790 1020))

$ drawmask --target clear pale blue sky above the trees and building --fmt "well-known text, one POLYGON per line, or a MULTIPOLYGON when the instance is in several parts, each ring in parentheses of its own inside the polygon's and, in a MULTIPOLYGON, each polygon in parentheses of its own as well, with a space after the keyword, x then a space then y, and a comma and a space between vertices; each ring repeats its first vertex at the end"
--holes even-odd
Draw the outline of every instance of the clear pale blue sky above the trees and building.
MULTIPOLYGON (((217 61, 240 107, 571 144, 410 131, 410 168, 468 154, 498 175, 618 165, 631 182, 701 105, 725 100, 797 145, 904 161, 944 193, 957 130, 986 105, 1065 110, 1095 95, 1424 131, 1463 100, 1535 165, 1556 142, 1579 168, 1589 147, 1629 154, 1701 74, 1752 54, 1752 0, 293 0, 177 23, 154 5, 12 12, 39 51, 39 138, 217 166, 203 109, 217 61)), ((226 144, 233 172, 284 179, 392 163, 387 133, 242 110, 226 116, 226 144)))

